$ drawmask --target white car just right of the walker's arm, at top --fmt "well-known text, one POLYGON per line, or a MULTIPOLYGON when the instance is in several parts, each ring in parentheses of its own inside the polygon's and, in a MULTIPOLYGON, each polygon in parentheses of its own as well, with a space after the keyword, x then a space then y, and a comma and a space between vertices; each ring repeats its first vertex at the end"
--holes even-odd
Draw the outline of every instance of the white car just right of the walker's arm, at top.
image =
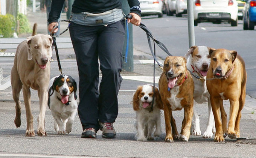
POLYGON ((141 16, 158 15, 159 18, 163 17, 162 0, 139 0, 141 16))

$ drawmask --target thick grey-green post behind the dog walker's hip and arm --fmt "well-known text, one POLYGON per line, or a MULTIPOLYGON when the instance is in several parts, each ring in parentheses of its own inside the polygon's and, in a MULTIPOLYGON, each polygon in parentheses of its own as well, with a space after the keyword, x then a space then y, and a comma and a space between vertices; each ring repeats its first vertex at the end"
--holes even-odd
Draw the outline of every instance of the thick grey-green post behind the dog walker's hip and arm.
MULTIPOLYGON (((125 15, 130 13, 130 6, 128 5, 127 0, 121 0, 122 2, 122 9, 125 15)), ((129 45, 128 45, 128 56, 127 56, 127 63, 123 62, 123 69, 128 72, 133 72, 133 25, 131 23, 128 24, 128 30, 129 30, 129 45)), ((125 42, 123 45, 123 61, 125 57, 125 51, 126 51, 126 44, 127 44, 127 30, 125 27, 125 42)))

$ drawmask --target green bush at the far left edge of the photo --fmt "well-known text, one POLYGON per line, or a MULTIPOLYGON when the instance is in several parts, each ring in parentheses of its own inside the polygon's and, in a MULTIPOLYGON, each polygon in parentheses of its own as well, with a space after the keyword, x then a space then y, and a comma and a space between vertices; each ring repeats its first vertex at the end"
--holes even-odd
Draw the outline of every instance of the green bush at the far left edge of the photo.
POLYGON ((0 37, 9 38, 15 32, 15 18, 13 15, 0 15, 0 37))

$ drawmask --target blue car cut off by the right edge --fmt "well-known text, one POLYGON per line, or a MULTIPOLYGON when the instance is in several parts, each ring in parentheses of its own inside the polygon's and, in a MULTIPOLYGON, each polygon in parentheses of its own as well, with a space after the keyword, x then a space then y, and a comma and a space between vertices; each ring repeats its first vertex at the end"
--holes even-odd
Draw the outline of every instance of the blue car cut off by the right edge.
POLYGON ((244 6, 244 30, 254 30, 256 25, 256 0, 243 0, 244 6))

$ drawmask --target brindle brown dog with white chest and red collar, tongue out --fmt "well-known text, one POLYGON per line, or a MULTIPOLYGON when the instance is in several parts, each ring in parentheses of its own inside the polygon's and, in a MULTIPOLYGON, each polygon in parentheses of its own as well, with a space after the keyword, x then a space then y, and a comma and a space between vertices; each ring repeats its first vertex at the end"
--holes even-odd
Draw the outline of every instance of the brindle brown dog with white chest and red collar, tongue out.
POLYGON ((184 57, 166 57, 158 85, 165 112, 165 141, 173 142, 173 137, 188 141, 193 116, 194 83, 187 71, 186 59, 184 57), (179 136, 172 111, 182 108, 184 108, 184 119, 179 136))

